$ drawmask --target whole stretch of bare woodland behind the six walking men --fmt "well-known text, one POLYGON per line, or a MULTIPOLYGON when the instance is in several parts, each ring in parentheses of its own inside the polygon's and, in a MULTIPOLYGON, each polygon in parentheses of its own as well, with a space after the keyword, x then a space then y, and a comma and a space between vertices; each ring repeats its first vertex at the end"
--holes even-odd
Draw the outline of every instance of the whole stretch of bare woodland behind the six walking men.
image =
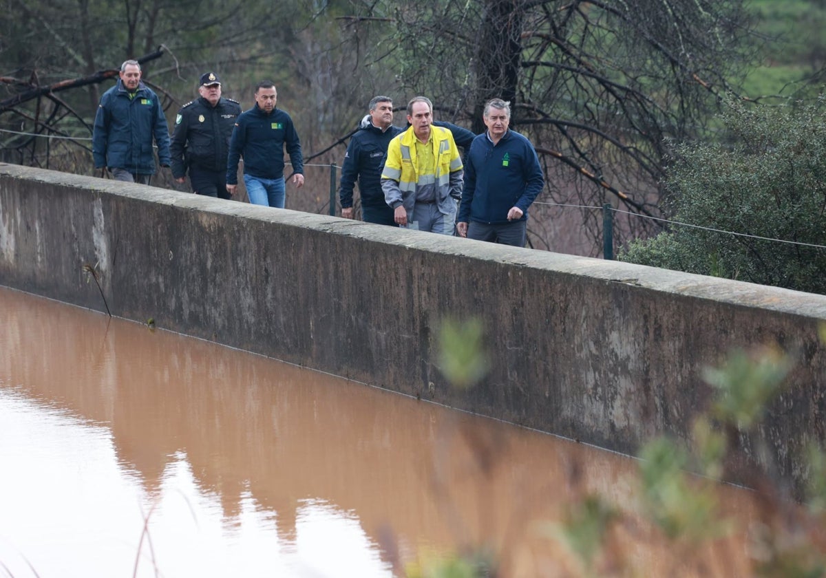
MULTIPOLYGON (((376 94, 402 107, 425 94, 441 120, 476 132, 484 103, 504 97, 512 128, 534 142, 548 178, 531 210, 530 241, 596 254, 602 219, 594 207, 605 202, 634 215, 617 221, 618 239, 657 228, 636 216, 659 214, 667 143, 703 135, 719 94, 736 88, 729 82, 748 62, 743 2, 7 0, 0 101, 93 77, 163 45, 145 80, 167 107, 191 99, 205 69, 218 70, 225 95, 247 107, 254 83, 271 79, 307 156, 325 164, 340 161, 376 94)), ((97 83, 57 98, 46 92, 0 111, 0 129, 38 132, 45 120, 54 135, 88 136, 97 83)), ((17 137, 0 137, 17 150, 17 137)), ((35 150, 26 149, 34 155, 26 162, 43 164, 35 150)))

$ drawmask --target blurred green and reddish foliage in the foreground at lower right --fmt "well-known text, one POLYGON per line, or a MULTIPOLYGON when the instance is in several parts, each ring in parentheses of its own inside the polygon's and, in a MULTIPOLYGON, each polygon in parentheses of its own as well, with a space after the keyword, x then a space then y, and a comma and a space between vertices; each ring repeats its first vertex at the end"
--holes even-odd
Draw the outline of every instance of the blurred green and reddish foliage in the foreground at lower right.
MULTIPOLYGON (((444 322, 443 372, 455 386, 473 386, 484 377, 482 336, 479 320, 444 322)), ((826 343, 826 325, 820 340, 826 343)), ((748 569, 734 566, 733 552, 725 550, 732 542, 722 541, 737 530, 737 523, 721 513, 720 476, 737 458, 738 437, 761 423, 793 366, 789 353, 759 348, 733 351, 720 367, 707 368, 703 379, 713 386, 714 396, 695 419, 692 442, 686 447, 655 438, 639 452, 641 516, 632 519, 627 505, 583 491, 567 505, 561 521, 537 528, 549 547, 563 546, 567 553, 548 576, 654 576, 651 568, 634 566, 619 545, 619 533, 665 544, 661 550, 668 559, 658 560, 665 573, 661 569, 656 576, 826 576, 826 456, 815 444, 809 447, 803 500, 793 499, 771 471, 752 466, 757 519, 749 520, 746 532, 748 569)), ((473 552, 417 561, 405 573, 422 578, 515 576, 500 564, 506 557, 480 545, 473 552)))

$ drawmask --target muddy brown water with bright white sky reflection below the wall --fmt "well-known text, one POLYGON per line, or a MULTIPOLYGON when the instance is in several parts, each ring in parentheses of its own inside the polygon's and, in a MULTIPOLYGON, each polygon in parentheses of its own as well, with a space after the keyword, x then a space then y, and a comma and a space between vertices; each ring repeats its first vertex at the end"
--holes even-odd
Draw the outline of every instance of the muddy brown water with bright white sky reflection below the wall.
POLYGON ((555 576, 538 524, 583 490, 633 501, 607 452, 17 291, 0 314, 16 578, 393 576, 479 543, 555 576))

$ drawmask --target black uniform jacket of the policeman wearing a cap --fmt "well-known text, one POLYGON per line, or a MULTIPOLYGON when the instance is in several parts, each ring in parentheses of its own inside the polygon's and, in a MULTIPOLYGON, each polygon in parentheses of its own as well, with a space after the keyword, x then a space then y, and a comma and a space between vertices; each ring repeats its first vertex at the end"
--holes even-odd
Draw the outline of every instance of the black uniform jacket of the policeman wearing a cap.
POLYGON ((225 171, 230 136, 240 114, 241 105, 231 98, 222 97, 215 107, 204 97, 183 105, 175 119, 169 146, 172 176, 183 178, 193 165, 225 171))

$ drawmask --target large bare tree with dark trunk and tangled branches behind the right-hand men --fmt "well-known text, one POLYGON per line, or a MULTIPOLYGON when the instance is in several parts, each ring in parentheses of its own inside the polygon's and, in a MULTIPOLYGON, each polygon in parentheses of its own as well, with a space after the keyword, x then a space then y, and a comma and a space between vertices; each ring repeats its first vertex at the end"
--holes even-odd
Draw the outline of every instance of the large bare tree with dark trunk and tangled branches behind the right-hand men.
MULTIPOLYGON (((659 215, 667 143, 703 134, 750 56, 743 0, 356 0, 353 9, 354 32, 371 23, 387 32, 360 69, 432 97, 441 116, 477 133, 488 99, 512 103, 511 128, 534 142, 548 178, 534 210, 546 221, 530 239, 554 249, 554 231, 568 235, 559 223, 578 221, 589 241, 571 252, 586 254, 601 250, 602 217, 590 207, 659 215)), ((619 225, 620 239, 658 228, 619 225)))

